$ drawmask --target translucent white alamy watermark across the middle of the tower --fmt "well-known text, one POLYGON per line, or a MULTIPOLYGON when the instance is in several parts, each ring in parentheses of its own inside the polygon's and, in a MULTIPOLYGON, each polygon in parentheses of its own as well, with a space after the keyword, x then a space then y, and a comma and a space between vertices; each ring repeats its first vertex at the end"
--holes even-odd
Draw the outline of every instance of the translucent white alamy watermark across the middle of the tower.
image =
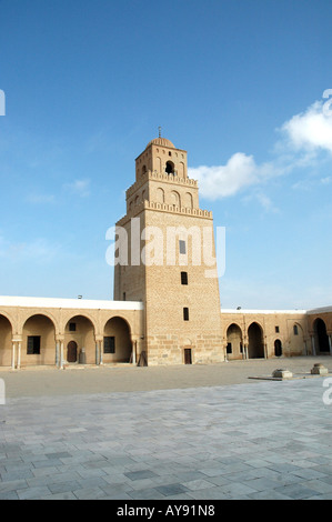
POLYGON ((111 267, 204 267, 205 278, 221 278, 225 272, 225 228, 145 227, 132 218, 130 228, 111 227, 105 259, 111 267))

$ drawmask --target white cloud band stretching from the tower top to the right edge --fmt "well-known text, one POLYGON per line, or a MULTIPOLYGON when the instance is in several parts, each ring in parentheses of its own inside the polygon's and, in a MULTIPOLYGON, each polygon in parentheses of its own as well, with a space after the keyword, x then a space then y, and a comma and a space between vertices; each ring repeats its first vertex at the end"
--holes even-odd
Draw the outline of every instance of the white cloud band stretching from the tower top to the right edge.
MULTIPOLYGON (((313 167, 319 152, 332 153, 332 111, 326 109, 326 103, 313 103, 279 129, 281 139, 275 142, 271 161, 258 164, 253 155, 237 152, 225 164, 190 168, 189 175, 199 181, 203 198, 217 200, 248 189, 256 190, 272 178, 289 174, 294 169, 313 167)), ((321 182, 328 184, 330 178, 321 182)), ((265 210, 274 208, 262 192, 256 192, 255 197, 265 210)))

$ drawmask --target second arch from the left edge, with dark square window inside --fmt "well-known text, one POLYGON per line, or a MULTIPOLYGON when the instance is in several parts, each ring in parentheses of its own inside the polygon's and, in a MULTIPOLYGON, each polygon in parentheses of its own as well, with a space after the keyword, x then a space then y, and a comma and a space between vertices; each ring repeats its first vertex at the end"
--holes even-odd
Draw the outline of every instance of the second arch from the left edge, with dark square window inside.
POLYGON ((30 315, 22 328, 21 364, 41 365, 56 362, 56 325, 49 314, 30 315))

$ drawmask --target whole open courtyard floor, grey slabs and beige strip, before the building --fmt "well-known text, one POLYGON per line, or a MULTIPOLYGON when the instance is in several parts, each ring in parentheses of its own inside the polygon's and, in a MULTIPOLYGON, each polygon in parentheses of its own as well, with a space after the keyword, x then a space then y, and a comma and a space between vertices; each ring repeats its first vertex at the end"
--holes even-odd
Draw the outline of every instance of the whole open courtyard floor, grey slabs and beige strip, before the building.
POLYGON ((332 499, 324 378, 248 379, 313 362, 1 372, 0 499, 332 499))

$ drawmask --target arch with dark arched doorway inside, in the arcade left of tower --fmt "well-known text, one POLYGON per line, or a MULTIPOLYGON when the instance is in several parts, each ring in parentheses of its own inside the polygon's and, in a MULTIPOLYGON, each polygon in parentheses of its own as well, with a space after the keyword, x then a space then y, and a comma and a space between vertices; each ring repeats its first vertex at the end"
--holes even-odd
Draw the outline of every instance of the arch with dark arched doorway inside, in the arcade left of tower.
POLYGON ((64 347, 68 347, 72 341, 77 343, 77 357, 79 358, 80 353, 84 351, 87 364, 95 364, 95 325, 88 314, 73 315, 67 321, 64 347))

